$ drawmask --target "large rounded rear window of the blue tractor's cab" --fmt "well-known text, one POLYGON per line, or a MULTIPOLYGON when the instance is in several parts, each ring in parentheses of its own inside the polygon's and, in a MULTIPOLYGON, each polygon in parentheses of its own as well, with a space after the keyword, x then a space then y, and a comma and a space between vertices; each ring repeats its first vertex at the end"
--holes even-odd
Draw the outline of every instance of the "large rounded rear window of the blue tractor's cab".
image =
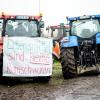
POLYGON ((71 34, 81 38, 90 38, 100 32, 99 21, 96 19, 78 20, 72 22, 71 34))

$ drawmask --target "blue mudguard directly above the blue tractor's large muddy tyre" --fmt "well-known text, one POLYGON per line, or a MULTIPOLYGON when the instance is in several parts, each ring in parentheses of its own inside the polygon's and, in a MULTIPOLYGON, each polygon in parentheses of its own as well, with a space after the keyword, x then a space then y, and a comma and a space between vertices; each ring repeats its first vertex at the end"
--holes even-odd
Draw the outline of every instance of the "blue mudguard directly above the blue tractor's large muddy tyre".
POLYGON ((74 46, 78 46, 78 40, 76 36, 64 37, 61 40, 61 47, 74 47, 74 46))

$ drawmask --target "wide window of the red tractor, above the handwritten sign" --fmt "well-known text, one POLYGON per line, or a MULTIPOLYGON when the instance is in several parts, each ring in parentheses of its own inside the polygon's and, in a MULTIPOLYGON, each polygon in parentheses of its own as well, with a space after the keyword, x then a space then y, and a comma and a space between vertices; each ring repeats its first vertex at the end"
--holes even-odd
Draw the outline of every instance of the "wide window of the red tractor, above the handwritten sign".
POLYGON ((7 20, 5 35, 8 36, 38 36, 37 22, 34 20, 7 20))

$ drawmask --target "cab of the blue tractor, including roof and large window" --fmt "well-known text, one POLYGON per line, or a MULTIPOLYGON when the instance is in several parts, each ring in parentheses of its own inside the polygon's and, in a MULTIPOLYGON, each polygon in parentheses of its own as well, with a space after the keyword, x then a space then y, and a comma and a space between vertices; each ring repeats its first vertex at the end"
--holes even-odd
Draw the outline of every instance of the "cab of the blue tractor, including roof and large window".
POLYGON ((71 25, 70 35, 77 36, 79 41, 95 39, 96 34, 100 32, 99 17, 90 15, 68 18, 71 25))

